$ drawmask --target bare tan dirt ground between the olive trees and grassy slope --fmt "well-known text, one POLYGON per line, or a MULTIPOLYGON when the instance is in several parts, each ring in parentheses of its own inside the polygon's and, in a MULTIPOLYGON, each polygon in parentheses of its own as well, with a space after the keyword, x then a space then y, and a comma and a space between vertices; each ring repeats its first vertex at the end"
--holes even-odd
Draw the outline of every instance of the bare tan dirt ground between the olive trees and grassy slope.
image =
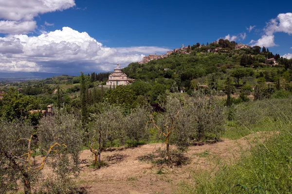
MULTIPOLYGON (((90 194, 171 194, 181 181, 188 181, 198 169, 213 169, 217 164, 237 160, 239 153, 250 143, 259 141, 260 133, 239 140, 224 139, 215 144, 191 146, 186 154, 190 163, 181 167, 164 166, 164 174, 156 174, 161 166, 141 162, 138 156, 151 153, 162 144, 150 144, 136 148, 117 148, 102 153, 102 160, 109 165, 95 170, 88 165, 93 156, 89 150, 81 154, 82 171, 77 182, 90 194)), ((260 135, 262 136, 262 135, 260 135)))

